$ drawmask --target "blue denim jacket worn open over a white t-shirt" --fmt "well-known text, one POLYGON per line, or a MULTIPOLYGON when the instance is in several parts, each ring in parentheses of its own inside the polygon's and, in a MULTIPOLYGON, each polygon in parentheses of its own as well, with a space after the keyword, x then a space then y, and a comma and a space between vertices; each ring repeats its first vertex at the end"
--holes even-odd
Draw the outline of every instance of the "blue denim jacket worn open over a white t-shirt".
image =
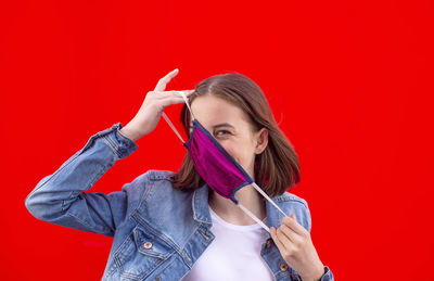
MULTIPOLYGON (((149 170, 122 191, 86 192, 117 159, 138 145, 119 132, 122 124, 93 135, 86 145, 27 195, 33 216, 59 226, 113 237, 102 280, 181 280, 213 243, 207 184, 194 191, 175 190, 173 171, 149 170)), ((295 213, 309 232, 305 200, 285 192, 272 197, 282 210, 295 213)), ((268 201, 267 226, 278 228, 282 215, 268 201)), ((265 232, 260 255, 276 280, 301 280, 265 232)), ((246 265, 248 266, 248 265, 246 265)), ((329 267, 322 281, 334 280, 329 267)))

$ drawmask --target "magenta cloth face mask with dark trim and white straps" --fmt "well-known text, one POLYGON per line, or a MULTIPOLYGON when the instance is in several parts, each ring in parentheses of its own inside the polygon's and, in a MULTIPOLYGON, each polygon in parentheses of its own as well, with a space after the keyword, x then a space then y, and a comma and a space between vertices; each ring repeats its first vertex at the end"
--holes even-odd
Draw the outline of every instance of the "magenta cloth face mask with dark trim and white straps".
POLYGON ((230 199, 235 205, 243 209, 252 219, 258 222, 265 230, 270 232, 255 215, 245 208, 235 199, 235 192, 241 188, 252 184, 264 197, 266 197, 284 216, 283 210, 255 183, 252 177, 241 167, 241 165, 218 143, 218 141, 203 127, 191 112, 189 100, 183 92, 179 92, 193 116, 193 129, 190 139, 186 143, 166 114, 163 117, 182 141, 193 161, 194 168, 204 181, 215 192, 224 197, 230 199))

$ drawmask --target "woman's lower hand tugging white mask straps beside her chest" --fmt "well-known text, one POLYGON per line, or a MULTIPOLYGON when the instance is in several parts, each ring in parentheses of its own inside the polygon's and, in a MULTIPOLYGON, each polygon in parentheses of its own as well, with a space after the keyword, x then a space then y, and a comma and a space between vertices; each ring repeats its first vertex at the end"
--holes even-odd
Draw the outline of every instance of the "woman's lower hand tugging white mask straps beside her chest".
POLYGON ((278 246, 283 259, 302 277, 303 281, 318 281, 324 273, 310 233, 301 226, 295 214, 284 217, 277 230, 270 228, 271 238, 278 246))

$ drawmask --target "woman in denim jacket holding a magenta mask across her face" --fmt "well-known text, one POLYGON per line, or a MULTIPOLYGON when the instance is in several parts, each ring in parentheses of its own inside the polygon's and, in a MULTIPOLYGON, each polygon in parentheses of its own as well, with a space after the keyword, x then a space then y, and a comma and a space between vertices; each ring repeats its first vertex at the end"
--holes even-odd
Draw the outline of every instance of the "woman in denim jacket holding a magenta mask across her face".
POLYGON ((333 280, 310 240, 306 201, 286 192, 299 181, 298 161, 260 88, 230 73, 195 90, 165 91, 177 74, 158 81, 125 127, 92 136, 41 179, 27 209, 113 237, 102 280, 333 280), (188 142, 163 113, 179 103, 188 142), (130 155, 162 114, 188 149, 179 171, 149 170, 110 194, 84 192, 130 155), (232 184, 238 175, 242 184, 232 184))

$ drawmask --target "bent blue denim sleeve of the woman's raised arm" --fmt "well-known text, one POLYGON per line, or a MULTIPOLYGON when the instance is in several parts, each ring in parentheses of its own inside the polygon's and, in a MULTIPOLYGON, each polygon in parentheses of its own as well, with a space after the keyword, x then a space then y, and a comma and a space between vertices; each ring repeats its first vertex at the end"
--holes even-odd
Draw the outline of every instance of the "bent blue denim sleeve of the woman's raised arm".
POLYGON ((144 177, 138 177, 122 191, 110 194, 85 191, 117 159, 138 149, 132 140, 119 132, 122 127, 117 123, 93 135, 56 171, 42 178, 25 200, 28 212, 43 221, 113 237, 127 214, 128 196, 144 177))

